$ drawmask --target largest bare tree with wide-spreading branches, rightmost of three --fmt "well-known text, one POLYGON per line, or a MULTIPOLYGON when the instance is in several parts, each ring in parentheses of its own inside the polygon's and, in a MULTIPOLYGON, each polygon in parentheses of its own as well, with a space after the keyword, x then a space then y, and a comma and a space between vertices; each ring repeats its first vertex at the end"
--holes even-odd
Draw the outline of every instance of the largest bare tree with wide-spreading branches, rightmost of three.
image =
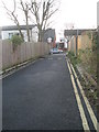
POLYGON ((44 30, 50 25, 50 19, 58 10, 55 8, 56 0, 31 0, 31 12, 35 18, 38 30, 38 41, 42 42, 44 30))

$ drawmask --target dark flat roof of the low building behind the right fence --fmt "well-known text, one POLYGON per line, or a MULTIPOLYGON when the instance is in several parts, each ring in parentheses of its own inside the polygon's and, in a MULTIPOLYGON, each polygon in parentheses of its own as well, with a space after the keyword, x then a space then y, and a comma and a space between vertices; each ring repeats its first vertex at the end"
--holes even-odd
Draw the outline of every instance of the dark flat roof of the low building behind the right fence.
POLYGON ((82 32, 85 32, 85 31, 96 31, 95 29, 86 29, 86 30, 80 30, 80 29, 78 29, 78 30, 65 30, 64 31, 64 35, 65 36, 73 36, 73 35, 81 35, 81 33, 82 32))

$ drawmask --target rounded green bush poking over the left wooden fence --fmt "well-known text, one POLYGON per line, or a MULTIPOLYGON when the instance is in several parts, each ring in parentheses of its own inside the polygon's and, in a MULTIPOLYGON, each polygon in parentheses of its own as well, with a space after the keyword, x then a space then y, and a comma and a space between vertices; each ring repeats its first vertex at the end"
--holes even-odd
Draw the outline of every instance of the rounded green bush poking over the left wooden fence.
POLYGON ((21 45, 21 43, 23 42, 22 37, 19 36, 19 35, 13 35, 11 37, 11 42, 12 42, 12 45, 13 45, 13 51, 18 47, 18 45, 21 45))

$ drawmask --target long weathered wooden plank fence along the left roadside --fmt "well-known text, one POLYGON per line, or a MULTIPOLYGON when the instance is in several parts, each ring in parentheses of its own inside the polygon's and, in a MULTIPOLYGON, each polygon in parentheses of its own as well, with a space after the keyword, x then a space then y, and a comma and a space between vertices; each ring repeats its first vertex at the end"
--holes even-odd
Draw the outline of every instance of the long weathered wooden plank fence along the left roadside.
POLYGON ((13 51, 10 41, 0 41, 0 70, 43 56, 48 52, 50 45, 46 43, 23 43, 13 51))

